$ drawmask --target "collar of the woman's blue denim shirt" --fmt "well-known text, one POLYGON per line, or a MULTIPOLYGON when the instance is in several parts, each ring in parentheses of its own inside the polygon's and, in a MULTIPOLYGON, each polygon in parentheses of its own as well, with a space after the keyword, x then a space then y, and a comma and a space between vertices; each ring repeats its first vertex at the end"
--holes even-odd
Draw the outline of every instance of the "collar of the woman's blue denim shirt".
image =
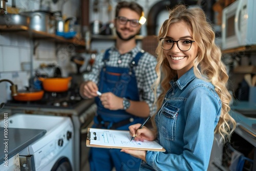
POLYGON ((186 87, 186 85, 193 79, 196 78, 195 74, 194 74, 194 67, 190 68, 184 75, 182 75, 178 80, 177 80, 177 76, 175 79, 170 81, 170 84, 172 85, 172 87, 175 87, 175 84, 177 84, 178 88, 180 90, 182 90, 184 87, 186 87))

